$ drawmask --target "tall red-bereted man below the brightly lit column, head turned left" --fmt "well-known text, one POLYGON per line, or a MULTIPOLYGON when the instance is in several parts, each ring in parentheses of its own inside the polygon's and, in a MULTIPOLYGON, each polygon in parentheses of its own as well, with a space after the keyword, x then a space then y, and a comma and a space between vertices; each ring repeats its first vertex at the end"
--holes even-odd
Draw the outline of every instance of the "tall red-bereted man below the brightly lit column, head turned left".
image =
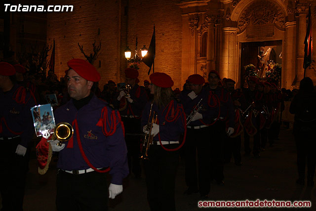
POLYGON ((212 178, 219 185, 224 185, 224 141, 227 136, 234 133, 235 127, 235 111, 230 93, 223 87, 219 87, 220 76, 215 70, 211 70, 208 74, 209 86, 207 90, 216 95, 219 100, 220 114, 214 120, 211 127, 211 159, 212 159, 212 178), (227 122, 227 123, 226 123, 227 122), (228 128, 226 129, 226 125, 228 128))

